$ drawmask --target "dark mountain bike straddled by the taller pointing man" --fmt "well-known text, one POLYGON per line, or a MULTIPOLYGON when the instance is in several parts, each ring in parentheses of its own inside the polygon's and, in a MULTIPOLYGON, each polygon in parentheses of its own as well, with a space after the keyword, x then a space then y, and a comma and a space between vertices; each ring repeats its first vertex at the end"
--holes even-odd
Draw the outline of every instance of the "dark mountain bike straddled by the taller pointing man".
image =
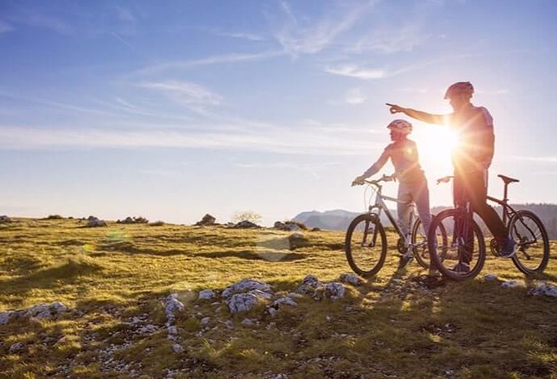
MULTIPOLYGON (((519 182, 518 179, 497 175, 503 180, 503 199, 487 196, 487 200, 499 204, 502 209, 503 224, 517 242, 517 250, 512 262, 526 275, 542 273, 549 261, 549 239, 547 231, 538 216, 524 209, 516 210, 509 204, 508 185, 519 182)), ((454 177, 437 180, 449 182, 454 177)), ((473 218, 473 209, 467 199, 457 203, 454 209, 441 211, 432 220, 428 233, 428 250, 432 263, 439 272, 452 280, 466 280, 476 277, 485 264, 486 247, 483 232, 473 218), (441 245, 446 233, 451 234, 450 241, 441 245), (470 270, 458 271, 451 267, 462 262, 469 262, 470 270)), ((501 257, 496 239, 492 239, 489 248, 495 257, 501 257)))

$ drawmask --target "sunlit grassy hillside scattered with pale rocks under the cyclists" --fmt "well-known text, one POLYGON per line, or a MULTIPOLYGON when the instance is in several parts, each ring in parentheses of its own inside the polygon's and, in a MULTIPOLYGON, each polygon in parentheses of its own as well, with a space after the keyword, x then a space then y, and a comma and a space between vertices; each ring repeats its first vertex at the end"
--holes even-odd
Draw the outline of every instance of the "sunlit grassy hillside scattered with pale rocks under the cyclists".
POLYGON ((247 277, 278 293, 295 291, 308 273, 338 280, 350 271, 343 232, 306 232, 304 247, 285 252, 277 249, 288 232, 273 229, 82 225, 0 225, 0 311, 54 301, 71 309, 0 326, 0 377, 557 378, 557 300, 527 294, 536 280, 557 282, 555 256, 536 280, 489 258, 483 273, 519 280, 517 288, 480 274, 427 289, 417 264, 395 270, 390 234, 382 271, 347 285, 343 300, 306 296, 274 317, 264 308, 231 317, 212 304, 218 298, 196 300, 197 291, 247 277), (169 293, 185 304, 175 324, 182 353, 164 326, 169 293), (147 324, 154 329, 138 330, 147 324))

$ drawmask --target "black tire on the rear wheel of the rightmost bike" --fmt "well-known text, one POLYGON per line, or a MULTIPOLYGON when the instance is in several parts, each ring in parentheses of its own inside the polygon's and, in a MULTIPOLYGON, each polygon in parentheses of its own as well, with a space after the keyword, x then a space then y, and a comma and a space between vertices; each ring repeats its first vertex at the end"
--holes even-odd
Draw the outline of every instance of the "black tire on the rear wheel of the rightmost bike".
MULTIPOLYGON (((549 261, 549 238, 547 236, 547 230, 542 223, 542 220, 535 213, 526 210, 520 210, 515 213, 509 221, 509 233, 512 238, 517 242, 517 252, 512 256, 512 262, 517 266, 517 268, 526 275, 535 275, 543 273, 547 267, 547 262, 549 261), (528 255, 526 249, 531 248, 531 243, 527 243, 525 239, 528 239, 528 235, 521 235, 520 232, 530 234, 533 232, 531 228, 526 226, 525 219, 530 219, 538 227, 540 231, 540 236, 533 236, 535 239, 541 238, 543 243, 542 248, 539 252, 542 253, 542 259, 540 264, 535 267, 526 265, 525 261, 528 261, 532 255, 528 255), (519 227, 521 228, 519 232, 519 227), (522 259, 522 257, 526 259, 522 259)), ((539 254, 538 254, 539 255, 539 254)))

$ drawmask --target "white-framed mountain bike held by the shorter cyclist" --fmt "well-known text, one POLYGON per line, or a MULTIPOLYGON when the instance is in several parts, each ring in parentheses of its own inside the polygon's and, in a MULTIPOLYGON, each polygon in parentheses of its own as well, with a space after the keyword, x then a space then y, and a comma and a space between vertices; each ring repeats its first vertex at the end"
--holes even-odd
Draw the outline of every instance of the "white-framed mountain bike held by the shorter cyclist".
MULTIPOLYGON (((370 277, 381 270, 385 263, 387 252, 387 239, 380 216, 384 211, 386 217, 398 234, 397 249, 401 255, 411 253, 416 261, 423 267, 430 267, 429 252, 427 252, 427 231, 423 231, 421 220, 416 216, 414 203, 410 213, 408 225, 412 225, 411 233, 405 235, 400 225, 385 204, 385 200, 405 203, 395 197, 382 194, 380 182, 390 182, 392 179, 383 175, 377 180, 365 180, 373 192, 375 202, 368 205, 368 213, 356 216, 348 226, 345 236, 345 253, 350 268, 363 277, 370 277)), ((368 189, 366 188, 366 190, 368 189)), ((370 196, 370 200, 371 200, 370 196)))

